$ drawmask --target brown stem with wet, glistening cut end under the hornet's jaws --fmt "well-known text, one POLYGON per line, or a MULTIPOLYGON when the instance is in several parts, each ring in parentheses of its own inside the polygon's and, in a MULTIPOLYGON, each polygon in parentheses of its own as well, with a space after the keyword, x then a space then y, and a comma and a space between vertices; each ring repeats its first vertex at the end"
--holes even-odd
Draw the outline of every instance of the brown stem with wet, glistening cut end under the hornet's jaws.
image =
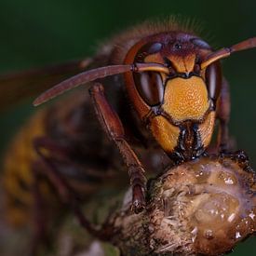
POLYGON ((220 255, 256 232, 256 182, 236 159, 201 157, 151 182, 147 208, 114 213, 111 242, 123 255, 220 255))

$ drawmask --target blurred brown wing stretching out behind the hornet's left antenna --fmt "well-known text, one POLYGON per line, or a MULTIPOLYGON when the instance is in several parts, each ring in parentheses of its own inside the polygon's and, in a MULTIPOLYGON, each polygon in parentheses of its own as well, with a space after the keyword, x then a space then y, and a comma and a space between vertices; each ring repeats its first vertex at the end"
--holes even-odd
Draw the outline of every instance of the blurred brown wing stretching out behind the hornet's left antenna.
POLYGON ((0 75, 0 110, 36 96, 71 75, 85 71, 91 59, 35 69, 18 74, 0 75))

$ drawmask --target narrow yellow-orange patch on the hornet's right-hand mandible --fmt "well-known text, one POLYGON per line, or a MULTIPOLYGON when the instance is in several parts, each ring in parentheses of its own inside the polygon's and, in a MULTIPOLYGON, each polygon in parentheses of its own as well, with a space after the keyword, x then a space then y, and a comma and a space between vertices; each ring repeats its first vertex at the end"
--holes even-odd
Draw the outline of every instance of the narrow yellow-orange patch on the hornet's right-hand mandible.
POLYGON ((215 122, 215 112, 212 111, 209 113, 204 123, 199 125, 199 132, 200 132, 204 147, 207 147, 209 145, 209 142, 211 140, 211 136, 213 133, 214 122, 215 122))

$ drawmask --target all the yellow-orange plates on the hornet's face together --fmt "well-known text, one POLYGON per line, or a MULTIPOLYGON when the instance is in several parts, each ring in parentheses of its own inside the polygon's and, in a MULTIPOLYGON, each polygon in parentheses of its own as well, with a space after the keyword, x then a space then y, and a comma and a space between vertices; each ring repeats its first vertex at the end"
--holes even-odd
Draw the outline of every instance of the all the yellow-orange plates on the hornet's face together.
MULTIPOLYGON (((195 54, 168 56, 172 68, 177 74, 191 74, 195 69, 195 54)), ((159 53, 149 55, 146 62, 164 63, 159 53)), ((151 121, 151 130, 155 140, 168 153, 172 153, 179 144, 180 125, 186 122, 198 124, 199 134, 204 147, 209 145, 212 136, 215 112, 209 112, 211 101, 204 81, 204 74, 168 78, 161 74, 164 88, 161 109, 168 115, 155 116, 151 121), (202 77, 200 76, 202 75, 202 77), (209 113, 208 113, 209 112, 209 113)))

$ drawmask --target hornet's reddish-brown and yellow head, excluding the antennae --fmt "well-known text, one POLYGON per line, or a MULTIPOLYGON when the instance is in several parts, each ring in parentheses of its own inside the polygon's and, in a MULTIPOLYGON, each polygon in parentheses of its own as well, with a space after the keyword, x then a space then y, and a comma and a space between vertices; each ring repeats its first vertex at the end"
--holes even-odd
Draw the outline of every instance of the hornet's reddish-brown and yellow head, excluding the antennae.
MULTIPOLYGON (((179 32, 151 40, 135 45, 126 61, 159 63, 166 70, 127 74, 128 93, 163 150, 192 159, 209 145, 214 128, 216 98, 200 66, 211 49, 199 38, 179 32)), ((213 76, 211 83, 217 77, 213 76)))

